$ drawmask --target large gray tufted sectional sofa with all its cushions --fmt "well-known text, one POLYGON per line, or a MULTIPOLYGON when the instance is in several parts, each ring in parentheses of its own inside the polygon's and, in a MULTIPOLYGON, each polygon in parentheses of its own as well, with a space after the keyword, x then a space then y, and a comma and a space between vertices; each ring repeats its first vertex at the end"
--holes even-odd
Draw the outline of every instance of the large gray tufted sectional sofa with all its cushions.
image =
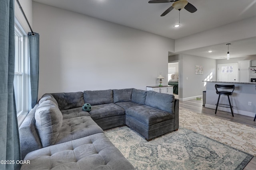
POLYGON ((149 141, 178 130, 178 102, 134 88, 44 94, 19 128, 22 159, 30 160, 21 169, 132 170, 104 130, 127 125, 149 141))

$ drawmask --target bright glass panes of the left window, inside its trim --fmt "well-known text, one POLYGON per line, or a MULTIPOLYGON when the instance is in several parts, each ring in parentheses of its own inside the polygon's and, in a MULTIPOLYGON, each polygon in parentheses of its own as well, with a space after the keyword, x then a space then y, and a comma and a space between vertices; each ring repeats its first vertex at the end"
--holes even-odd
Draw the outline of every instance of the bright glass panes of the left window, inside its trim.
POLYGON ((15 70, 14 70, 14 92, 16 100, 17 114, 24 110, 24 53, 23 53, 23 35, 17 27, 15 27, 15 70))

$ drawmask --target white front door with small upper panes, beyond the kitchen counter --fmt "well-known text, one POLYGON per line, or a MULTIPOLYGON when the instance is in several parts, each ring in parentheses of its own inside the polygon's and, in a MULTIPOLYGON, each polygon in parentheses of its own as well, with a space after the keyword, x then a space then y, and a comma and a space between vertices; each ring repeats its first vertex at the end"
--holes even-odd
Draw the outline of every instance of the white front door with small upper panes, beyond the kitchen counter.
POLYGON ((237 82, 237 63, 218 64, 218 81, 237 82))

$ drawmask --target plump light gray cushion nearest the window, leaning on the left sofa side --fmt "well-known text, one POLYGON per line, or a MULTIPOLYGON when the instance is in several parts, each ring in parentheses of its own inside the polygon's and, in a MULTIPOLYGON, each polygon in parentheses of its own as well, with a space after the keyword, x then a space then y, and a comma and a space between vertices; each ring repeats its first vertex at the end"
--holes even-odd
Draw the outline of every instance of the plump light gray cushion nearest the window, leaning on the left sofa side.
POLYGON ((42 102, 35 112, 36 129, 43 147, 53 145, 62 127, 62 113, 51 100, 42 102))

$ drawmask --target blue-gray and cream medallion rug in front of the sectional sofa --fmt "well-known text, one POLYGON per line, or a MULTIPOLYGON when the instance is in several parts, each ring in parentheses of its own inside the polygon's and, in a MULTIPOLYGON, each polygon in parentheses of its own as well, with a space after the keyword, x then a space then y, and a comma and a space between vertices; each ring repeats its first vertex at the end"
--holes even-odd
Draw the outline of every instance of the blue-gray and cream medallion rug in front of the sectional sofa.
POLYGON ((137 170, 242 170, 253 157, 183 127, 149 142, 126 126, 105 134, 137 170))

